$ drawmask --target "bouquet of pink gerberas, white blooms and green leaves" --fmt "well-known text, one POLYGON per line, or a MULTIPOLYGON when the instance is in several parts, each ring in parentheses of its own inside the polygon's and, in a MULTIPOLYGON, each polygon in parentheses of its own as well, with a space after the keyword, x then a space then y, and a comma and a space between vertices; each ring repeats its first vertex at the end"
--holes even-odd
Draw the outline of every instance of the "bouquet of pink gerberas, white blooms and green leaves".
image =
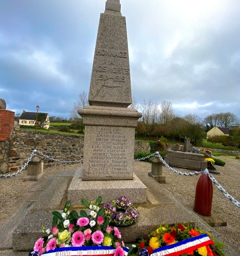
POLYGON ((84 210, 80 210, 79 214, 75 210, 69 211, 70 200, 66 202, 62 214, 53 211, 52 232, 50 229, 45 230, 43 226, 42 232, 45 236, 36 241, 34 252, 29 255, 41 255, 56 248, 70 246, 113 246, 116 248, 114 256, 124 256, 121 233, 118 228, 108 225, 110 218, 104 219, 105 209, 99 207, 101 201, 102 196, 91 204, 82 199, 89 214, 84 210))

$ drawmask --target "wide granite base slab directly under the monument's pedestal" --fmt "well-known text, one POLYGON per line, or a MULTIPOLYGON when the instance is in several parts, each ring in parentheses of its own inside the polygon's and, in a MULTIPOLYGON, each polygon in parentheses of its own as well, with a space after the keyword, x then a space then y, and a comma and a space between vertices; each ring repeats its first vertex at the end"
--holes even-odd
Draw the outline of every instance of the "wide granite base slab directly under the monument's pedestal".
POLYGON ((133 180, 82 180, 83 166, 75 173, 68 188, 68 200, 72 206, 81 205, 82 198, 88 202, 102 195, 104 203, 119 196, 127 196, 134 203, 146 203, 147 188, 133 174, 133 180))

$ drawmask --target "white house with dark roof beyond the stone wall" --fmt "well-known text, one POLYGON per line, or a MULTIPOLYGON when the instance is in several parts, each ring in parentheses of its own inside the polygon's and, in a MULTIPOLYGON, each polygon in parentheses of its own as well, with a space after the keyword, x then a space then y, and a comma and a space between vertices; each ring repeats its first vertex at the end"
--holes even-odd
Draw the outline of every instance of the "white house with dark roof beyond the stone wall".
MULTIPOLYGON (((36 112, 26 112, 25 110, 22 110, 22 114, 19 117, 19 125, 28 125, 28 126, 34 126, 36 125, 36 112)), ((49 129, 49 116, 48 113, 41 113, 38 112, 38 124, 42 120, 43 123, 43 129, 49 129), (40 119, 41 118, 41 119, 40 119)))

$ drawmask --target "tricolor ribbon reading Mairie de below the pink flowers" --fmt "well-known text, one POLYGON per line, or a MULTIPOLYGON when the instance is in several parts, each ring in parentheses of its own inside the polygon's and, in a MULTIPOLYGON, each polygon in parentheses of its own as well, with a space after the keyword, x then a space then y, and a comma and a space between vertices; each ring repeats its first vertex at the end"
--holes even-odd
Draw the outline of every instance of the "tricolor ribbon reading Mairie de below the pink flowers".
MULTIPOLYGON (((128 255, 129 249, 126 247, 124 250, 124 256, 128 255)), ((112 246, 83 246, 83 247, 64 247, 56 248, 48 252, 44 252, 42 255, 46 256, 113 256, 116 249, 112 246)), ((32 256, 38 256, 36 252, 31 253, 32 256), (34 254, 35 253, 35 254, 34 254)))

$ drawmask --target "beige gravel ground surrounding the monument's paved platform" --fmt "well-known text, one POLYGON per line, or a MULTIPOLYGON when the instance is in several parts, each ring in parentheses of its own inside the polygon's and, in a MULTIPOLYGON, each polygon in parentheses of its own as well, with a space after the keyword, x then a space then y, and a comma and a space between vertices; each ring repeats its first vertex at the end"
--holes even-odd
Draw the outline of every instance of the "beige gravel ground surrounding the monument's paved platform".
MULTIPOLYGON (((220 174, 214 174, 216 180, 240 201, 240 161, 229 156, 219 156, 226 162, 226 166, 216 166, 220 174)), ((44 168, 44 175, 49 176, 62 170, 76 170, 81 164, 51 166, 44 168)), ((146 172, 151 170, 151 164, 147 162, 134 162, 135 168, 143 168, 146 172)), ((176 168, 177 169, 177 168, 176 168)), ((182 172, 189 170, 178 168, 182 172)), ((24 171, 15 178, 0 179, 0 225, 15 212, 24 199, 27 190, 36 182, 24 182, 22 178, 24 171)), ((165 166, 162 174, 166 176, 166 189, 168 189, 183 204, 193 205, 195 188, 199 176, 180 176, 169 171, 165 166)), ((226 240, 240 248, 240 208, 228 200, 215 186, 212 202, 212 212, 216 213, 222 220, 227 220, 226 227, 215 228, 226 240)))

